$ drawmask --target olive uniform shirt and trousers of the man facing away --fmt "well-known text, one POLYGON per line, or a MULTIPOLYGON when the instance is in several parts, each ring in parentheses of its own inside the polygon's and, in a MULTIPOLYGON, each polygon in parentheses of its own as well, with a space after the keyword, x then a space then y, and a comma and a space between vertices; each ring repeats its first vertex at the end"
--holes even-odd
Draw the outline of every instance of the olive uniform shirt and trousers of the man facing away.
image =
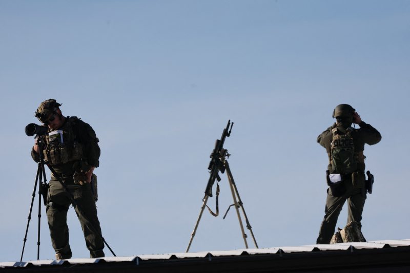
MULTIPOLYGON (((362 162, 358 164, 358 169, 363 172, 364 176, 364 144, 373 145, 378 143, 381 140, 381 135, 370 124, 363 121, 359 126, 360 128, 354 129, 351 134, 354 142, 354 150, 362 157, 362 160, 359 160, 359 162, 362 162)), ((337 124, 335 123, 317 138, 317 142, 326 149, 327 154, 331 153, 331 142, 333 138, 332 129, 336 127, 337 124)), ((345 130, 339 127, 338 129, 341 131, 345 130)), ((332 173, 331 164, 328 165, 327 169, 332 173)), ((319 236, 316 243, 330 243, 335 232, 337 218, 339 217, 340 211, 346 200, 348 204, 347 223, 356 221, 359 224, 359 227, 361 227, 362 212, 366 200, 366 190, 363 186, 356 187, 353 185, 351 174, 344 175, 342 176, 342 183, 336 187, 329 187, 327 189, 326 207, 324 210, 325 215, 320 226, 319 236)))

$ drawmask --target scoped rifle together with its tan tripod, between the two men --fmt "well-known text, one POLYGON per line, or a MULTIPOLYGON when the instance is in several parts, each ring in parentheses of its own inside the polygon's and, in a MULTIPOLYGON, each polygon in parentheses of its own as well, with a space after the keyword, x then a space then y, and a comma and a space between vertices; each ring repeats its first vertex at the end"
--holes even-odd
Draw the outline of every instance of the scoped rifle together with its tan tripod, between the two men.
MULTIPOLYGON (((212 154, 210 156, 211 157, 211 162, 210 162, 210 165, 209 165, 208 169, 210 170, 211 176, 210 176, 210 179, 208 181, 207 188, 205 190, 205 196, 202 199, 202 206, 201 206, 201 210, 199 212, 198 220, 196 221, 194 230, 191 234, 191 239, 189 241, 186 252, 188 252, 190 247, 191 247, 192 240, 194 239, 194 236, 196 234, 196 229, 198 228, 199 221, 201 220, 203 210, 205 209, 205 207, 208 207, 208 205, 207 205, 208 198, 212 197, 212 185, 214 184, 215 180, 217 180, 217 181, 221 180, 221 178, 218 175, 218 172, 220 171, 221 173, 224 173, 225 170, 227 171, 228 181, 229 181, 229 185, 230 185, 230 188, 231 188, 231 193, 232 193, 232 198, 233 198, 234 203, 228 207, 227 212, 223 216, 223 219, 225 219, 225 217, 227 216, 228 211, 231 208, 231 206, 235 206, 236 214, 238 216, 239 226, 240 226, 240 230, 241 230, 241 234, 242 234, 242 238, 243 238, 243 241, 245 243, 245 248, 248 248, 248 242, 247 242, 248 236, 245 234, 243 224, 242 224, 242 219, 241 219, 240 212, 239 212, 239 208, 242 208, 242 213, 243 213, 243 216, 245 218, 245 222, 247 223, 247 228, 251 232, 251 236, 252 236, 252 239, 253 239, 253 242, 254 242, 256 248, 258 248, 258 244, 256 243, 255 236, 252 232, 252 226, 249 223, 247 214, 245 213, 245 208, 243 207, 242 200, 240 199, 240 196, 239 196, 238 188, 236 187, 234 178, 232 176, 231 169, 229 167, 229 163, 228 163, 227 158, 229 158, 230 154, 228 153, 228 150, 223 149, 223 143, 225 141, 225 138, 229 137, 231 135, 233 122, 231 124, 231 130, 228 132, 229 125, 230 125, 230 120, 228 121, 227 128, 224 129, 223 132, 222 132, 221 139, 216 140, 215 149, 214 149, 214 151, 212 152, 212 154)), ((218 182, 217 182, 217 187, 216 187, 216 213, 213 213, 211 211, 211 209, 208 207, 209 212, 215 217, 218 216, 218 214, 219 214, 218 195, 219 195, 219 185, 218 185, 218 182)))

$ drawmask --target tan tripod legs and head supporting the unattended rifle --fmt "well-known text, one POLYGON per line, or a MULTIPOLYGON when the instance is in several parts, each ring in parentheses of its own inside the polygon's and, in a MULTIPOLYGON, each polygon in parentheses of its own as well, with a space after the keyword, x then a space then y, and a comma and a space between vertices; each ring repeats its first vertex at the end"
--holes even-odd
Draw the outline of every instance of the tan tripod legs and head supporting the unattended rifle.
MULTIPOLYGON (((239 226, 240 226, 240 230, 241 230, 241 234, 242 234, 242 238, 243 238, 243 241, 244 241, 244 243, 245 243, 245 248, 248 248, 248 242, 247 242, 248 235, 245 234, 245 231, 244 231, 244 228, 243 228, 243 224, 242 224, 242 219, 241 219, 240 212, 239 212, 239 208, 242 208, 242 213, 243 213, 243 216, 244 216, 244 218, 245 218, 245 222, 247 223, 247 228, 248 228, 248 229, 250 230, 250 232, 251 232, 251 236, 252 236, 252 239, 253 239, 253 242, 254 242, 256 248, 258 248, 258 244, 256 243, 255 236, 254 236, 254 234, 253 234, 253 232, 252 232, 252 226, 251 226, 251 224, 249 223, 247 214, 245 213, 245 208, 243 207, 242 200, 240 199, 240 196, 239 196, 238 188, 236 187, 234 178, 233 178, 233 176, 232 176, 231 169, 230 169, 230 167, 229 167, 229 163, 228 163, 228 160, 227 160, 227 157, 229 157, 229 156, 230 156, 230 154, 228 154, 228 151, 227 151, 227 150, 221 149, 220 158, 219 158, 219 159, 220 159, 220 162, 222 162, 223 167, 226 168, 226 172, 227 172, 227 176, 228 176, 228 181, 229 181, 229 186, 230 186, 230 188, 231 188, 232 198, 233 198, 233 200, 234 200, 234 203, 228 207, 227 212, 226 212, 225 215, 223 216, 223 219, 225 219, 225 217, 227 216, 228 211, 229 211, 229 209, 231 208, 231 206, 235 206, 236 214, 237 214, 237 216, 238 216, 239 226)), ((219 187, 217 187, 217 190, 216 190, 216 191, 217 191, 216 194, 218 195, 219 187)), ((204 196, 203 199, 202 199, 201 211, 199 212, 198 220, 196 221, 194 230, 193 230, 193 232, 192 232, 192 234, 191 234, 191 239, 190 239, 190 241, 189 241, 189 244, 188 244, 188 247, 187 247, 186 252, 188 252, 189 249, 190 249, 190 247, 191 247, 192 240, 194 239, 194 236, 195 236, 195 234, 196 234, 196 229, 198 228, 199 221, 201 220, 203 210, 204 210, 205 207, 207 206, 208 198, 209 198, 209 195, 208 195, 207 193, 205 193, 205 196, 204 196)), ((216 197, 216 198, 218 198, 218 197, 216 197)), ((217 201, 217 202, 218 202, 218 201, 217 201)), ((217 206, 218 206, 218 205, 217 205, 217 206)), ((218 209, 218 208, 217 208, 217 209, 218 209)), ((211 210, 210 210, 210 212, 211 212, 211 210)), ((217 216, 217 215, 218 215, 218 213, 217 213, 217 214, 213 214, 212 212, 211 212, 211 214, 214 215, 214 216, 217 216)))

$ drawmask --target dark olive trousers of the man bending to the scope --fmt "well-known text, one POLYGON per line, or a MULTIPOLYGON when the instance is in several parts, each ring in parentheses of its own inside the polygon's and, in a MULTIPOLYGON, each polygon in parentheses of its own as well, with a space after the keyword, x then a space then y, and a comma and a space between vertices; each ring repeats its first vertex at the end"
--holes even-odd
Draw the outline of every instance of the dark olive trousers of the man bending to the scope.
MULTIPOLYGON (((97 208, 91 192, 90 184, 74 185, 72 177, 63 179, 68 191, 73 195, 74 209, 83 229, 90 257, 104 257, 104 241, 101 237, 101 228, 97 217, 97 208)), ((72 257, 69 244, 67 226, 67 212, 72 204, 70 196, 56 178, 50 180, 49 198, 46 207, 48 225, 50 228, 51 243, 55 253, 61 259, 72 257)))

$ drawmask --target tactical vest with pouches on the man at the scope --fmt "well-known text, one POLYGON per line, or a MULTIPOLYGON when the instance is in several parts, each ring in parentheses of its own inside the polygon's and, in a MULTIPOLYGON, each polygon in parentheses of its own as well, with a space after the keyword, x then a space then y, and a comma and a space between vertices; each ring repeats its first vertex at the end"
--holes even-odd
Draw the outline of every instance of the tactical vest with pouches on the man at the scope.
MULTIPOLYGON (((52 165, 64 164, 71 161, 80 160, 83 156, 83 145, 75 140, 73 126, 77 117, 67 117, 66 122, 59 130, 63 131, 63 143, 60 137, 51 139, 47 134, 46 149, 43 151, 44 160, 49 161, 52 165)), ((57 130, 51 130, 52 133, 57 130)), ((59 134, 58 134, 59 135, 59 134)))

